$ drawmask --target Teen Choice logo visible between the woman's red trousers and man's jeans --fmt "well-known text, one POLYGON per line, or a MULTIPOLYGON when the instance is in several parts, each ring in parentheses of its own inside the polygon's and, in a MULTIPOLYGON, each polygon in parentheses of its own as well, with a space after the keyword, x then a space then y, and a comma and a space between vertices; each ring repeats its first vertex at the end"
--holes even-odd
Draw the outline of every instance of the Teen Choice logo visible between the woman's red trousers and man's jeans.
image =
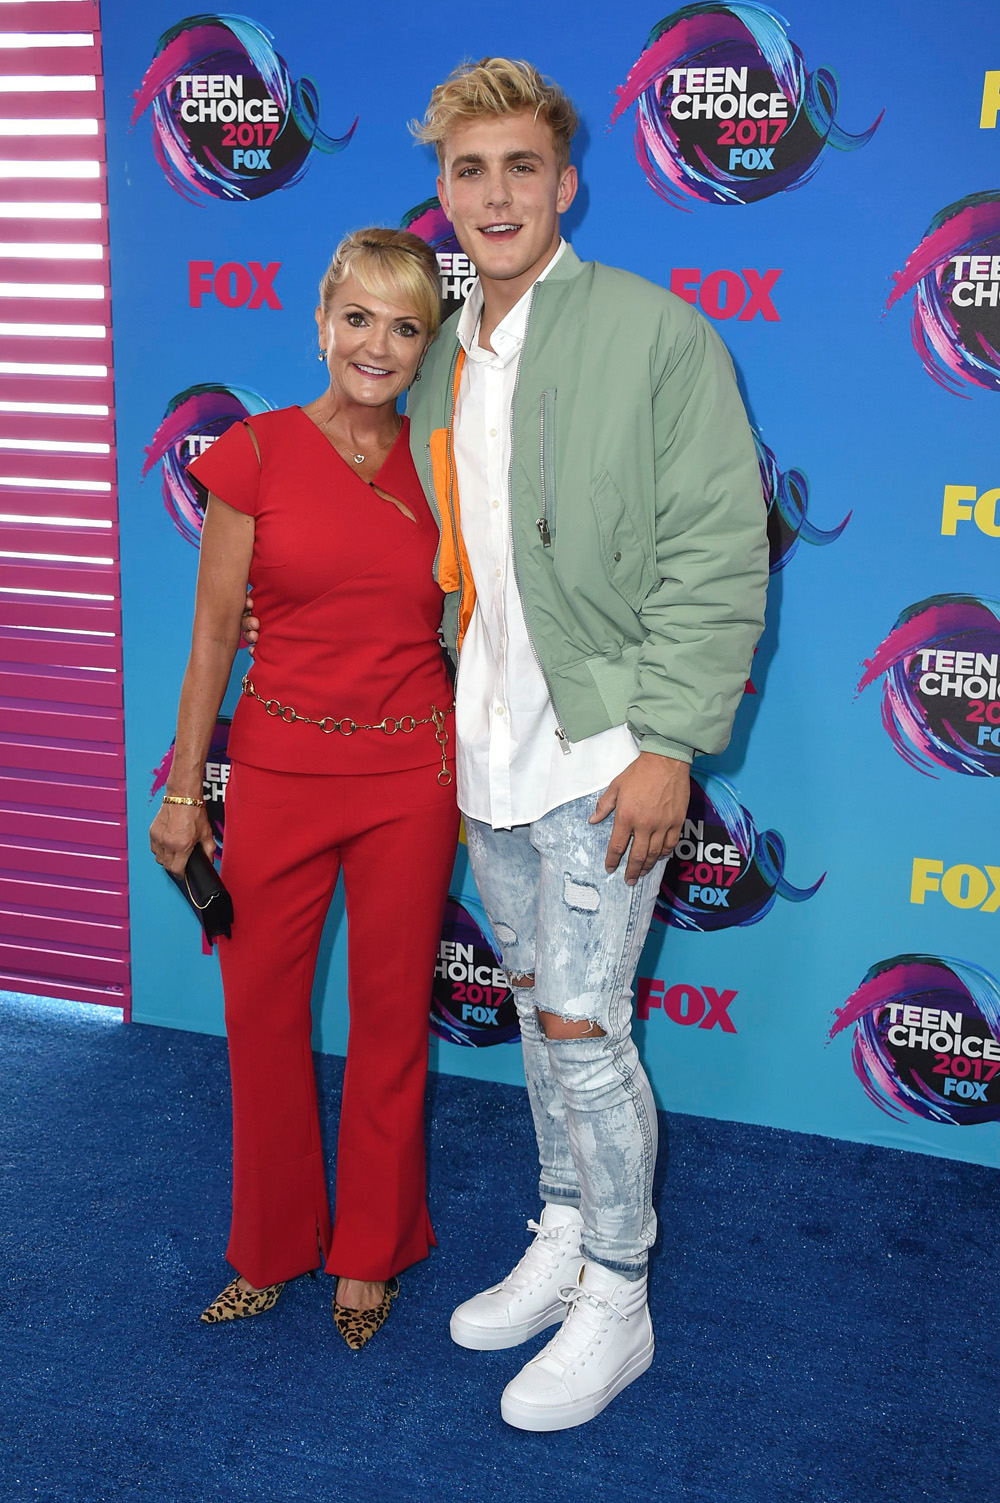
POLYGON ((447 1043, 486 1049, 520 1037, 514 993, 486 911, 450 897, 430 993, 430 1031, 447 1043))

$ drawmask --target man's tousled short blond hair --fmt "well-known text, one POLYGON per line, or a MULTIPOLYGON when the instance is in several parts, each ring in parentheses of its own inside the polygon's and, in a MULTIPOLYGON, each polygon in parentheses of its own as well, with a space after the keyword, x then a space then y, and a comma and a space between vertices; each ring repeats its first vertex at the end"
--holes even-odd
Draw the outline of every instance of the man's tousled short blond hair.
POLYGON ((558 84, 543 78, 531 63, 510 57, 483 57, 478 63, 460 63, 438 84, 430 96, 423 120, 411 122, 411 131, 424 146, 438 147, 444 168, 445 141, 451 131, 471 120, 531 110, 535 120, 544 120, 555 138, 559 171, 570 165, 570 141, 577 119, 573 102, 558 84))

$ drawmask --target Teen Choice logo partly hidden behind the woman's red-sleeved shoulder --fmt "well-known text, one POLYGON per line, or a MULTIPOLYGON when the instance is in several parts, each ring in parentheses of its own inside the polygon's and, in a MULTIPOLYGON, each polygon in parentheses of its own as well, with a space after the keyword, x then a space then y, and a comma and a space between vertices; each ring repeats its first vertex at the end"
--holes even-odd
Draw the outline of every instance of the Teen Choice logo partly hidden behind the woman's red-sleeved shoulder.
POLYGON ((195 547, 205 522, 205 485, 188 475, 186 466, 215 443, 235 422, 256 412, 271 412, 271 403, 245 386, 206 382, 171 397, 164 419, 146 449, 143 479, 162 464, 162 497, 174 528, 195 547))

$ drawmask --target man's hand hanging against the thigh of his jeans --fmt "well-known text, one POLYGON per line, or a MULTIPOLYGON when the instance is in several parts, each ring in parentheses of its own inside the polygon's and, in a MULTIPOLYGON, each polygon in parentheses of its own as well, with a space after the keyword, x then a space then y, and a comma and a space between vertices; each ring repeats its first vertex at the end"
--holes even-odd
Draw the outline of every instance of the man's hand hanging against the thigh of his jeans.
POLYGON ((626 882, 633 887, 651 872, 662 857, 669 855, 681 837, 681 825, 690 798, 690 768, 672 756, 641 752, 621 777, 597 800, 589 818, 592 825, 615 812, 615 824, 608 842, 605 866, 617 872, 629 851, 626 882))

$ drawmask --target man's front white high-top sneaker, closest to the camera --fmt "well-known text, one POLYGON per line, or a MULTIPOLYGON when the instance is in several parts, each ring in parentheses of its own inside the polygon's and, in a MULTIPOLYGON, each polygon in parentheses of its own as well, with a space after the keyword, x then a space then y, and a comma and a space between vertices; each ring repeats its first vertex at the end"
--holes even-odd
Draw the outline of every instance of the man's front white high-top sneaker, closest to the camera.
POLYGON ((562 1294, 562 1329, 504 1389, 501 1414, 516 1429, 583 1425, 653 1362, 645 1278, 630 1282, 588 1261, 562 1294))

